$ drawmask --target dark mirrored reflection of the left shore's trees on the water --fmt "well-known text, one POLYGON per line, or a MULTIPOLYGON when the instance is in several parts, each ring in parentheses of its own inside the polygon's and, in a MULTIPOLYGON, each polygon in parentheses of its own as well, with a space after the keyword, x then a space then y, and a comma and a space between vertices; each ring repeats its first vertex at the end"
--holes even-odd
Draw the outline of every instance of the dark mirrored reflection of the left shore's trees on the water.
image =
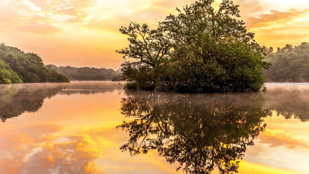
POLYGON ((0 85, 0 119, 5 122, 25 112, 37 112, 45 98, 56 94, 107 94, 118 89, 118 82, 106 81, 0 85))

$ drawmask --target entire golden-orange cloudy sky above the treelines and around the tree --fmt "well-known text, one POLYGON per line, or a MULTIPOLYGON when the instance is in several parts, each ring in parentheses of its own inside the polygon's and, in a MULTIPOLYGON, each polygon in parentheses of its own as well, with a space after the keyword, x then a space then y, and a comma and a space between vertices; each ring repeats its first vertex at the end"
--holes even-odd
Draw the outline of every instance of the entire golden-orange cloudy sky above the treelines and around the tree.
MULTIPOLYGON (((152 27, 195 0, 1 0, 0 42, 39 54, 45 64, 118 69, 119 32, 130 21, 152 27)), ((218 6, 220 0, 215 0, 218 6)), ((248 31, 267 47, 309 42, 309 1, 234 0, 248 31)))

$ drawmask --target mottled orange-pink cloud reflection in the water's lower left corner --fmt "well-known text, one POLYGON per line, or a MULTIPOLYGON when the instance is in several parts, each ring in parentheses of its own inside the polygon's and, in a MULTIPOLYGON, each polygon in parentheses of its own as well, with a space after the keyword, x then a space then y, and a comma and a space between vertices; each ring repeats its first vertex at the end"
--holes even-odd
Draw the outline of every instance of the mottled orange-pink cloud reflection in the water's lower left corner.
POLYGON ((55 125, 32 125, 3 134, 2 173, 96 173, 94 160, 102 157, 96 141, 89 133, 54 136, 61 129, 55 125))

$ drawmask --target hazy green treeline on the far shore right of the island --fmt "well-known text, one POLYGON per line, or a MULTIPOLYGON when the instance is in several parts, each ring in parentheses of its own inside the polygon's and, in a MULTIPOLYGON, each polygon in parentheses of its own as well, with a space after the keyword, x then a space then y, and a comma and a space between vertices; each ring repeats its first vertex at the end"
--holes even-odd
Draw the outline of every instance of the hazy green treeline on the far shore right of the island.
POLYGON ((308 82, 309 81, 309 43, 299 46, 287 44, 283 48, 264 46, 265 59, 272 63, 264 74, 268 82, 308 82))

